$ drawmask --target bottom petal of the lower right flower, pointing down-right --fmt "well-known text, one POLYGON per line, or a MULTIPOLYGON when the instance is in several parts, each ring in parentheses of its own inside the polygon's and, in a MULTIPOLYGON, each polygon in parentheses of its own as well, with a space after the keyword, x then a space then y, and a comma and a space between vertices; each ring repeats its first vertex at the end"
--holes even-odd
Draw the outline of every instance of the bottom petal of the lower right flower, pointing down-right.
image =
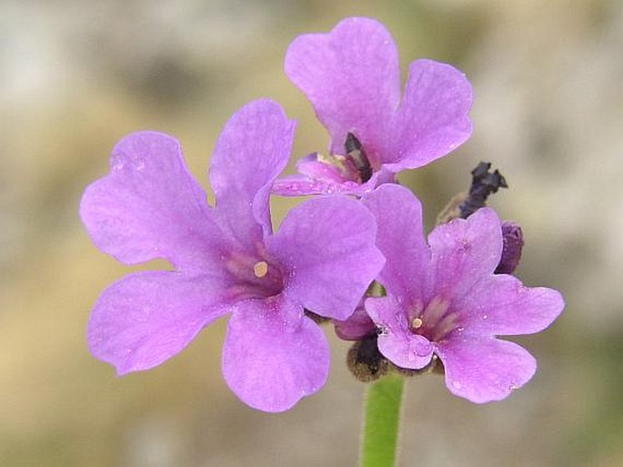
POLYGON ((439 343, 437 354, 447 389, 476 403, 506 398, 537 371, 537 361, 517 343, 467 333, 454 333, 439 343))

